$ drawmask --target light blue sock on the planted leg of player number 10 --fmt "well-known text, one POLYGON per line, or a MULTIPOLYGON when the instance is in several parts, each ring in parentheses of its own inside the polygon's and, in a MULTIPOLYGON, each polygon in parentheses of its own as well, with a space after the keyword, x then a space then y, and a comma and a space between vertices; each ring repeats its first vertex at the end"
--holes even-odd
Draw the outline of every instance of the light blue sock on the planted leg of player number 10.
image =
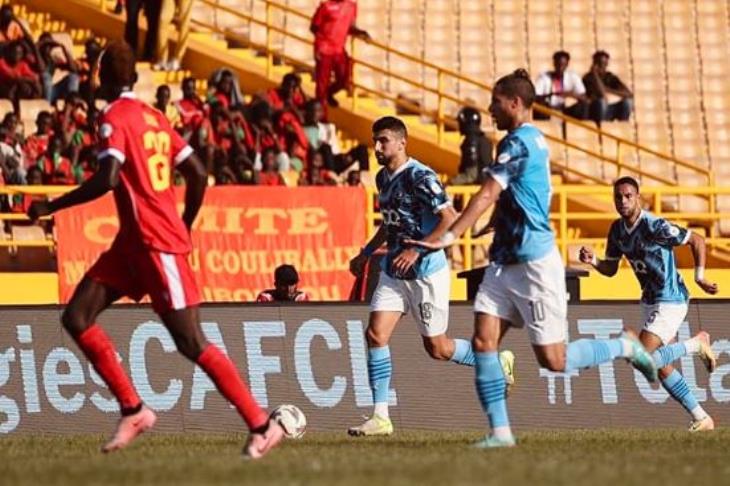
POLYGON ((496 351, 474 353, 476 358, 476 388, 482 410, 489 418, 492 429, 509 427, 505 400, 504 372, 496 351))

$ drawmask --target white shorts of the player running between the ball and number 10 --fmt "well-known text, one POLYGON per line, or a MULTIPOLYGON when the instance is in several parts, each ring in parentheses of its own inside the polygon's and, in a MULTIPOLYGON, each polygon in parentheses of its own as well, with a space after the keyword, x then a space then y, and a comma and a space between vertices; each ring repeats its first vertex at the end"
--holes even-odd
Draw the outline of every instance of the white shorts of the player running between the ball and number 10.
POLYGON ((438 336, 449 326, 450 287, 448 266, 414 280, 400 280, 380 272, 370 311, 410 312, 422 336, 438 336))

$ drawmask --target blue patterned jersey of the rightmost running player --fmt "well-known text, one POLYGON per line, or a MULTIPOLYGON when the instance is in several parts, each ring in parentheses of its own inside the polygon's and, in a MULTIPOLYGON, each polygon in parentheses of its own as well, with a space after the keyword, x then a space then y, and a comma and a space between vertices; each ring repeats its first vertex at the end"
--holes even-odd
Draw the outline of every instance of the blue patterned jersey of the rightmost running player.
POLYGON ((632 228, 627 228, 622 219, 613 222, 606 258, 626 256, 641 285, 642 302, 687 302, 689 292, 677 271, 674 247, 686 244, 689 237, 685 228, 642 211, 632 228))

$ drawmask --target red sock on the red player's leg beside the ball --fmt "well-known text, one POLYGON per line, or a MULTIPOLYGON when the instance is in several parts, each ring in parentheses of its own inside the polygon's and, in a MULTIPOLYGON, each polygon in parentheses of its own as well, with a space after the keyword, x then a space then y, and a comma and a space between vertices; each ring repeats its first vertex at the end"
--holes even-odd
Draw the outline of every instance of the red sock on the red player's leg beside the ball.
POLYGON ((214 344, 209 344, 200 356, 198 365, 208 373, 216 388, 231 402, 246 421, 249 429, 257 429, 269 420, 266 412, 256 403, 248 386, 238 374, 233 361, 214 344))

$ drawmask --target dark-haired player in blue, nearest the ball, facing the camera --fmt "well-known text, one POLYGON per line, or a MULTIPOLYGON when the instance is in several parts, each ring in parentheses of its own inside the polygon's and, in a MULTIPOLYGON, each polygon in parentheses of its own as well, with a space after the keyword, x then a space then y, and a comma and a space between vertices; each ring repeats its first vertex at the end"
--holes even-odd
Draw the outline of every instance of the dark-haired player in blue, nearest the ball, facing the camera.
MULTIPOLYGON (((392 374, 388 342, 403 314, 413 316, 432 358, 474 366, 471 343, 446 335, 451 274, 444 251, 426 251, 406 243, 435 240, 456 219, 434 171, 406 154, 407 140, 406 126, 398 118, 384 117, 373 125, 375 156, 383 166, 376 176, 383 223, 362 253, 350 262, 350 269, 359 275, 367 258, 386 242, 388 254, 370 302, 366 332, 375 410, 365 423, 348 430, 353 436, 393 432, 388 412, 392 374)), ((510 357, 511 353, 503 360, 508 371, 512 366, 510 357)))

